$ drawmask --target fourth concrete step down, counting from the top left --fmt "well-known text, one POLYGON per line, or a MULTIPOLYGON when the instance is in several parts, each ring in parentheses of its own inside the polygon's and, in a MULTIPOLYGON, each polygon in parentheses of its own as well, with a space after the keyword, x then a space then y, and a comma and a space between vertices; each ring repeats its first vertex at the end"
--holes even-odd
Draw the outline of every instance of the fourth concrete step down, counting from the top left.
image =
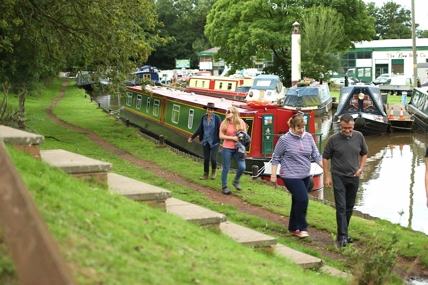
POLYGON ((169 198, 165 203, 166 212, 175 214, 191 223, 198 223, 204 227, 220 231, 220 223, 226 221, 226 216, 223 214, 216 213, 179 199, 169 198))

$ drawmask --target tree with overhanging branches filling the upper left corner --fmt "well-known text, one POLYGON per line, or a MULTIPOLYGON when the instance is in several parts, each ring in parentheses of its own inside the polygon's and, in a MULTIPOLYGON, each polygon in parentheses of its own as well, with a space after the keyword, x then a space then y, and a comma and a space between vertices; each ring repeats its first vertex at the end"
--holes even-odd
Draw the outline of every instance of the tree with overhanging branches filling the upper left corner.
POLYGON ((104 73, 119 91, 165 42, 151 0, 3 0, 0 11, 0 82, 23 89, 68 69, 104 73))

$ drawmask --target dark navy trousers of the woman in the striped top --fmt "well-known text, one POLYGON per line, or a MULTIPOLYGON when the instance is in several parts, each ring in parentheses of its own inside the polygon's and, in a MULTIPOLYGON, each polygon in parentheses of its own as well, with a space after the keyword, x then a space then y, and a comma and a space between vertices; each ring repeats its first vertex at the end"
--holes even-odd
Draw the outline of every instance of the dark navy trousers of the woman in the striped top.
POLYGON ((308 228, 306 223, 306 211, 308 210, 308 186, 311 176, 303 179, 282 178, 285 187, 291 193, 291 210, 290 221, 288 222, 288 230, 300 232, 308 228))

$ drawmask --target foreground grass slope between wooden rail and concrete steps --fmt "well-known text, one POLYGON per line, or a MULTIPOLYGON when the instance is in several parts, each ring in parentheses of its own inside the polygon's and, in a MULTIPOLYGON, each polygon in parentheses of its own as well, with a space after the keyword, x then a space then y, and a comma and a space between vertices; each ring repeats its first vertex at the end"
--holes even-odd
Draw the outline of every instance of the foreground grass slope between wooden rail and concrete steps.
POLYGON ((79 284, 339 282, 9 151, 79 284))

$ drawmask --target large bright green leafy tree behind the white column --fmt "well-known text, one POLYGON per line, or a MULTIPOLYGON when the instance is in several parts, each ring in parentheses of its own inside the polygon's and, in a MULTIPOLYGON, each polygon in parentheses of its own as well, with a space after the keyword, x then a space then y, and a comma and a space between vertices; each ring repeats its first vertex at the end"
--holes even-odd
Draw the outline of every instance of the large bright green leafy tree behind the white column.
MULTIPOLYGON (((343 19, 336 22, 345 32, 336 38, 339 43, 335 47, 339 50, 351 47, 351 41, 369 40, 375 33, 374 20, 367 15, 362 0, 217 0, 207 16, 205 35, 212 45, 221 47, 217 57, 231 64, 232 69, 250 67, 253 57, 263 58, 273 53, 273 67, 267 69, 283 75, 287 85, 290 82, 291 25, 294 21, 303 25, 304 9, 315 3, 331 7, 343 19)), ((330 52, 336 53, 335 50, 330 52)))

